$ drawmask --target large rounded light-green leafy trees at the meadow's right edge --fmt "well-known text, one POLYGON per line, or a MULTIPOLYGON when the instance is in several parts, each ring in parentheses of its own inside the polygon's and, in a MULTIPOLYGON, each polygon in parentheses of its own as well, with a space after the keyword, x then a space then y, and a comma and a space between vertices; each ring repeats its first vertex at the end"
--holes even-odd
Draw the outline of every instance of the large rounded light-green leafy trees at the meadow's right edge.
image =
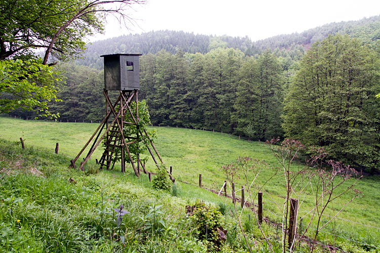
POLYGON ((285 103, 287 136, 355 166, 378 166, 378 58, 358 39, 329 36, 300 63, 285 103))

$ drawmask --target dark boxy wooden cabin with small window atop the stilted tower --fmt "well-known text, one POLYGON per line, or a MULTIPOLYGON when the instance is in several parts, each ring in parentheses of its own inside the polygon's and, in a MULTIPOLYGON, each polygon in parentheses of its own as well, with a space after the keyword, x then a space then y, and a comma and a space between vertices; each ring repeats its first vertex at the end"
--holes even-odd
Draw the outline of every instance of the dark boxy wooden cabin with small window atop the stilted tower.
POLYGON ((140 54, 102 55, 104 89, 112 91, 140 90, 140 54))

